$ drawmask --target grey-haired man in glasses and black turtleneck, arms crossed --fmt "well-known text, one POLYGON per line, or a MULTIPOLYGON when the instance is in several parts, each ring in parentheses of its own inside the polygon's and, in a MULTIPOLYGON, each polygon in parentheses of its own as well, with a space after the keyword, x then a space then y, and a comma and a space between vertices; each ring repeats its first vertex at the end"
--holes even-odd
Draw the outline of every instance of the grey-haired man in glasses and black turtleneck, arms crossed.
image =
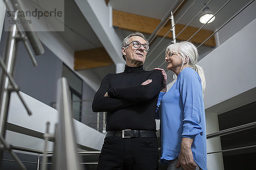
POLYGON ((142 33, 129 34, 122 42, 125 71, 107 74, 94 96, 93 111, 108 112, 97 170, 158 167, 154 116, 163 77, 158 70, 143 69, 148 51, 148 41, 142 33))

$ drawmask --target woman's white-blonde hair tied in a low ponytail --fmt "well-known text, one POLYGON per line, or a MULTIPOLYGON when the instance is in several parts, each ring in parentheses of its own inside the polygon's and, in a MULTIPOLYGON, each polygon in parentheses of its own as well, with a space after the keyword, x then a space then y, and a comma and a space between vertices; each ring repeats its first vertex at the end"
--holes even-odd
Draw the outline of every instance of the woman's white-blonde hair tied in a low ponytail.
POLYGON ((181 57, 183 60, 182 66, 184 64, 185 59, 188 59, 188 66, 193 68, 198 73, 201 79, 202 90, 204 95, 204 89, 205 89, 204 70, 201 66, 196 64, 198 60, 198 50, 195 47, 195 45, 187 41, 171 44, 166 48, 166 56, 168 56, 168 54, 172 51, 173 53, 177 52, 178 54, 180 54, 178 56, 181 57))

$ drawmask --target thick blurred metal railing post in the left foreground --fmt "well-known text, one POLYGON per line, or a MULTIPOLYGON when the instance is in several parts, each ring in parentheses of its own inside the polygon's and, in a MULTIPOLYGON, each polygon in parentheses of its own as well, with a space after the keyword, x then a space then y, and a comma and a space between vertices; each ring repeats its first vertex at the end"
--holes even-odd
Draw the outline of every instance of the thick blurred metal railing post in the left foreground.
POLYGON ((58 80, 58 125, 55 128, 53 169, 80 170, 76 149, 75 130, 72 118, 72 106, 69 86, 66 78, 58 80))

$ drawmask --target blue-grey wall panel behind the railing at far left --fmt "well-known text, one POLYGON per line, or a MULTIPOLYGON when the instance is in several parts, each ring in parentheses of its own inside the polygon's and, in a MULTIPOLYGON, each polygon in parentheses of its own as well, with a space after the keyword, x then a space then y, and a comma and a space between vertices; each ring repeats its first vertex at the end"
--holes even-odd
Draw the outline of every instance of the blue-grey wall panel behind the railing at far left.
MULTIPOLYGON (((0 52, 6 43, 8 32, 3 31, 0 52)), ((23 42, 17 50, 15 82, 20 91, 32 96, 47 105, 56 102, 57 80, 61 77, 62 62, 45 45, 45 53, 36 56, 38 66, 34 67, 23 42)))

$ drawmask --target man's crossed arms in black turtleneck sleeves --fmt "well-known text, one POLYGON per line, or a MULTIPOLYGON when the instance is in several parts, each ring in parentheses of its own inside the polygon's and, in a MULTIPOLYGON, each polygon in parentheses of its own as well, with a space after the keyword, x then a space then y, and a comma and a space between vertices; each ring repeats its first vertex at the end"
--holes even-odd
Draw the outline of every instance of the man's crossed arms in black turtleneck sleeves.
POLYGON ((162 75, 160 72, 156 71, 152 73, 148 79, 151 79, 152 83, 123 88, 109 88, 108 75, 105 76, 99 90, 94 96, 92 105, 93 111, 116 111, 136 105, 138 102, 152 99, 159 94, 162 75))

